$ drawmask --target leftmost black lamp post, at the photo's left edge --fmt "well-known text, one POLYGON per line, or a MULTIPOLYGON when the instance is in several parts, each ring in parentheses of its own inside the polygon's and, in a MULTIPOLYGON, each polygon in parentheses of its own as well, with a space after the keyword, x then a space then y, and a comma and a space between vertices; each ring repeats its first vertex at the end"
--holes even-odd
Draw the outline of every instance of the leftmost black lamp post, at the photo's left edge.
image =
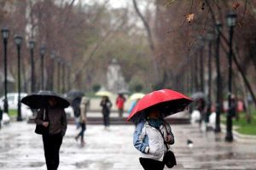
POLYGON ((8 110, 8 99, 7 99, 7 42, 9 37, 9 30, 7 28, 2 29, 3 37, 3 63, 4 63, 4 103, 3 112, 9 113, 8 110))

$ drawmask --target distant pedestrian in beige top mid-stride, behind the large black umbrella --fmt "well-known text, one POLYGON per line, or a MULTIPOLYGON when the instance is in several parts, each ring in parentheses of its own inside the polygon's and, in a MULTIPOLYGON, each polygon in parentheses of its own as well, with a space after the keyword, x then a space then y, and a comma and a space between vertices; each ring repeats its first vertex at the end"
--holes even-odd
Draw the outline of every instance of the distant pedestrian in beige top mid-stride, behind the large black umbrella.
POLYGON ((81 138, 81 145, 84 146, 84 131, 86 129, 86 122, 87 122, 87 111, 89 110, 90 107, 90 99, 83 97, 81 99, 81 104, 80 104, 80 116, 79 116, 79 122, 80 122, 80 127, 81 131, 80 133, 75 137, 76 140, 81 138))

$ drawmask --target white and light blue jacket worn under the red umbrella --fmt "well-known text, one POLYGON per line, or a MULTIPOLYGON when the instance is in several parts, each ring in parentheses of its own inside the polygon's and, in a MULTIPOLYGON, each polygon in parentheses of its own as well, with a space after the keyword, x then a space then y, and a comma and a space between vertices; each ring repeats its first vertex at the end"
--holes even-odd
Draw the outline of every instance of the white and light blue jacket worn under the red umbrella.
MULTIPOLYGON (((167 144, 174 144, 172 129, 168 123, 160 126, 160 131, 164 135, 167 144), (169 139, 167 139, 167 136, 169 139)), ((162 161, 166 153, 164 139, 158 129, 150 126, 148 122, 137 124, 133 133, 133 144, 141 152, 141 157, 162 161)), ((168 145, 169 147, 169 145, 168 145)))

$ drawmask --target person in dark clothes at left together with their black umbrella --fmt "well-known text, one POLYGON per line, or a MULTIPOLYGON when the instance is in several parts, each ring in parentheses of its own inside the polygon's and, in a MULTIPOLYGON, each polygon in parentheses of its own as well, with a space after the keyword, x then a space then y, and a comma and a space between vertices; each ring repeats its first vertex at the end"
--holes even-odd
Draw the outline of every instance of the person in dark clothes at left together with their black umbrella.
POLYGON ((26 96, 21 102, 32 109, 38 109, 35 133, 42 134, 43 137, 46 167, 48 170, 58 169, 59 152, 67 130, 64 108, 69 105, 68 101, 54 92, 40 91, 38 94, 26 96))

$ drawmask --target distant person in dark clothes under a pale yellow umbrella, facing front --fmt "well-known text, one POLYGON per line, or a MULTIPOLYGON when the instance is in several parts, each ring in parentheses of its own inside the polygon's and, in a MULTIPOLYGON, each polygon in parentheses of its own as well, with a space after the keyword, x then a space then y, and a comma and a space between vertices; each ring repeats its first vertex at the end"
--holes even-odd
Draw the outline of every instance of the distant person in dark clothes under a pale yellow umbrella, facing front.
POLYGON ((105 126, 105 129, 108 129, 110 125, 110 122, 109 122, 110 109, 112 107, 112 103, 109 100, 108 96, 102 96, 102 101, 100 105, 102 106, 104 126, 105 126))

